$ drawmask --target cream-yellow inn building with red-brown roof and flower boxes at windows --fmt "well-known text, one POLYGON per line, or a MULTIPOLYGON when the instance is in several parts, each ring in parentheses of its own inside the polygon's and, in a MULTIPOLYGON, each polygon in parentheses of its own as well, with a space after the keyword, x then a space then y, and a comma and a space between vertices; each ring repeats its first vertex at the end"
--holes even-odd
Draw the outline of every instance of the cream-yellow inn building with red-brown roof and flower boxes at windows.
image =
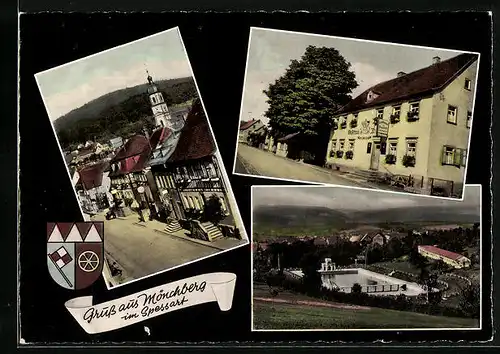
POLYGON ((377 84, 339 110, 326 165, 400 176, 414 192, 461 196, 478 56, 461 54, 377 84))

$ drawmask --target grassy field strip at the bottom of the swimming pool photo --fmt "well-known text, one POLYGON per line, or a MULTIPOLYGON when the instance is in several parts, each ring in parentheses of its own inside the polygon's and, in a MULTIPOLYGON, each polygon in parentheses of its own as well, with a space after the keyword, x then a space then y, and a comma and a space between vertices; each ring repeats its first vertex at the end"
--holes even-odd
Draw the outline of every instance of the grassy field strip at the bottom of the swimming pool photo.
POLYGON ((256 330, 478 328, 479 325, 473 319, 349 306, 290 292, 273 298, 267 286, 259 284, 254 284, 253 321, 256 330))

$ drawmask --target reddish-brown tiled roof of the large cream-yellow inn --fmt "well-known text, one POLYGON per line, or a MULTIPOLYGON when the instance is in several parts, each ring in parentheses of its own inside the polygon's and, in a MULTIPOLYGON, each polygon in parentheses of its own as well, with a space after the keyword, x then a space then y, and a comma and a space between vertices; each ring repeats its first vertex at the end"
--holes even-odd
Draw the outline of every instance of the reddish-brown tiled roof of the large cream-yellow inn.
POLYGON ((383 103, 416 98, 437 92, 477 59, 478 56, 475 54, 460 54, 401 77, 379 83, 354 98, 342 107, 339 113, 355 112, 383 103), (366 102, 366 97, 370 91, 378 93, 379 96, 370 102, 366 102))

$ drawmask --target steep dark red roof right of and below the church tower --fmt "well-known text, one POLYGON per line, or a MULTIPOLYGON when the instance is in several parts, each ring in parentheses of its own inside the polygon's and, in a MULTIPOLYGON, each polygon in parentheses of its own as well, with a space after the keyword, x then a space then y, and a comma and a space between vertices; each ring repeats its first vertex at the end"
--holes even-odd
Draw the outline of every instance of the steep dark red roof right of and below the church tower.
POLYGON ((179 142, 168 162, 195 160, 212 155, 215 143, 200 100, 196 100, 181 130, 179 142))

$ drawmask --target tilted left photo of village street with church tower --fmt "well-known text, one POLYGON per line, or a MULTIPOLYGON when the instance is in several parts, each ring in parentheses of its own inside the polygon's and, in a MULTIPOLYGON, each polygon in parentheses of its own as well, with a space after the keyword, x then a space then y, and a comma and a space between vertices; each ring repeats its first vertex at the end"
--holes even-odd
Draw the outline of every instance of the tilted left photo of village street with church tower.
POLYGON ((248 244, 177 28, 35 77, 108 288, 248 244))

